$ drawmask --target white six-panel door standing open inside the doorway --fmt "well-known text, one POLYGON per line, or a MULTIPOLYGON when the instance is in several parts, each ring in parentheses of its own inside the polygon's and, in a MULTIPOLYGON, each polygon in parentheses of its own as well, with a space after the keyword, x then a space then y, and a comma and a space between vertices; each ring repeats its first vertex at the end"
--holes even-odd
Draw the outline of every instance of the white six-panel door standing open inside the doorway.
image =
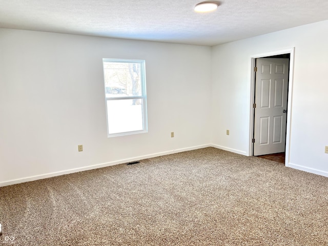
POLYGON ((285 151, 288 58, 257 58, 254 155, 285 151))

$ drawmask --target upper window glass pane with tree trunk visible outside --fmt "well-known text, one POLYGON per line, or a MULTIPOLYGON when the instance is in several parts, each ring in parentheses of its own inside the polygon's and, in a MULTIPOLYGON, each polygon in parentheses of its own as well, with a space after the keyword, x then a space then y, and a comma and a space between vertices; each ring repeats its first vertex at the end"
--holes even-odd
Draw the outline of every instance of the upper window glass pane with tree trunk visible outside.
POLYGON ((106 97, 141 96, 141 64, 104 61, 106 97))

